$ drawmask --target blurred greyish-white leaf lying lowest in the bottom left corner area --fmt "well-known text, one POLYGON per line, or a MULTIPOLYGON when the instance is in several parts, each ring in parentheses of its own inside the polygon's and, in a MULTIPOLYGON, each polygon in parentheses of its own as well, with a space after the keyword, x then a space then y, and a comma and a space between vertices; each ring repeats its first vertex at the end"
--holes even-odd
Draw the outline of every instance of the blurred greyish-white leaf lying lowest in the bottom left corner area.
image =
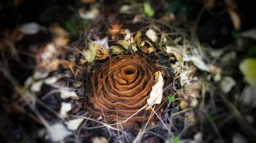
POLYGON ((54 142, 62 141, 69 135, 72 135, 72 132, 67 130, 67 128, 61 123, 51 125, 47 132, 50 139, 54 142))

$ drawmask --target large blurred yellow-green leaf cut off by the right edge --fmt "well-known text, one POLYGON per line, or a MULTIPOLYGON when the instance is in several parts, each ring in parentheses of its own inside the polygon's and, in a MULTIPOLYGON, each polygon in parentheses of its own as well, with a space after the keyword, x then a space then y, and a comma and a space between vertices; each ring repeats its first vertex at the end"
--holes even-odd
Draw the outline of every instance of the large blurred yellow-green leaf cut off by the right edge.
POLYGON ((247 58, 239 65, 244 79, 253 87, 256 87, 256 59, 247 58))

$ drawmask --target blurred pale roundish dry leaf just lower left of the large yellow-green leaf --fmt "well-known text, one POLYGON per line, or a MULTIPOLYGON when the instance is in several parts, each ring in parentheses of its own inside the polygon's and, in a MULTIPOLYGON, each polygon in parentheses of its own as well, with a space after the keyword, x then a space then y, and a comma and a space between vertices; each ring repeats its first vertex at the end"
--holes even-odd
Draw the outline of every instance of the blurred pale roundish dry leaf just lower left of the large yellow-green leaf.
POLYGON ((224 93, 229 93, 234 85, 236 85, 236 81, 230 76, 224 76, 220 85, 224 93))

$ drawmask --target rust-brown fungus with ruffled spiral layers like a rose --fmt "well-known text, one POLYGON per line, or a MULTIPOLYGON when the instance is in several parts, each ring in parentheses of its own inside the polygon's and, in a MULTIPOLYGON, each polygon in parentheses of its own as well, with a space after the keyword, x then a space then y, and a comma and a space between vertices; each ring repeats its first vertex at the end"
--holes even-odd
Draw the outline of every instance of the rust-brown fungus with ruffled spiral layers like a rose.
POLYGON ((137 53, 101 65, 91 77, 93 94, 88 109, 92 116, 102 116, 109 124, 129 119, 122 123, 123 128, 148 120, 150 111, 140 109, 150 96, 155 72, 153 62, 137 53))

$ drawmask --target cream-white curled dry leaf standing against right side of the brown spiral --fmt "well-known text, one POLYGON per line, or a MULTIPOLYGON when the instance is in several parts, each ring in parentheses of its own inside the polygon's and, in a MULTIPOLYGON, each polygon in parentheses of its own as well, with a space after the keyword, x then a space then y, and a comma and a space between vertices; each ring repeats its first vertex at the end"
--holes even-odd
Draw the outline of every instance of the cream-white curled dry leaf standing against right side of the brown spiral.
POLYGON ((163 76, 160 71, 155 73, 155 85, 152 87, 150 92, 150 98, 147 99, 148 108, 152 107, 154 104, 160 104, 163 94, 163 76))

